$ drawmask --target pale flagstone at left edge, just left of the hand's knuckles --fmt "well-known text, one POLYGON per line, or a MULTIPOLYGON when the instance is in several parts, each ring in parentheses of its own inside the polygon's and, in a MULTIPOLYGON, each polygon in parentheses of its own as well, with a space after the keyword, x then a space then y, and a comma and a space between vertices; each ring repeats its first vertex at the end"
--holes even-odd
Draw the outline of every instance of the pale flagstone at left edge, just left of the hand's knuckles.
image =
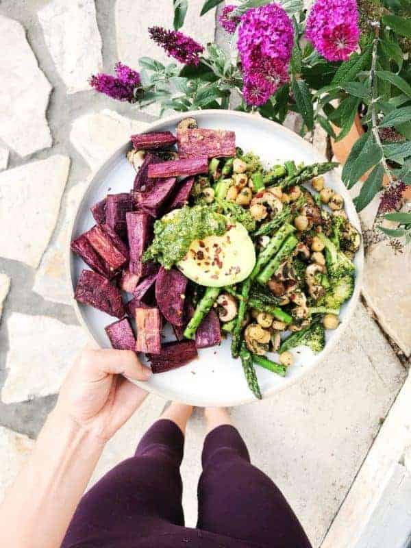
POLYGON ((84 329, 48 316, 18 312, 12 313, 7 327, 8 376, 1 401, 12 403, 57 393, 75 356, 86 345, 84 329))

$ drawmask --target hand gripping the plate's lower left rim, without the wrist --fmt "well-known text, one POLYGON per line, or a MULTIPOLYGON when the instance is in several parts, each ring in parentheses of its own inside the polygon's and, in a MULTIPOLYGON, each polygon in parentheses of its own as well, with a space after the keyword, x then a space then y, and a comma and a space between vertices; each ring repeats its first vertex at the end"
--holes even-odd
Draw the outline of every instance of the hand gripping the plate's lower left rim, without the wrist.
POLYGON ((133 351, 84 349, 64 380, 56 411, 109 440, 147 396, 123 375, 146 381, 151 371, 133 351))

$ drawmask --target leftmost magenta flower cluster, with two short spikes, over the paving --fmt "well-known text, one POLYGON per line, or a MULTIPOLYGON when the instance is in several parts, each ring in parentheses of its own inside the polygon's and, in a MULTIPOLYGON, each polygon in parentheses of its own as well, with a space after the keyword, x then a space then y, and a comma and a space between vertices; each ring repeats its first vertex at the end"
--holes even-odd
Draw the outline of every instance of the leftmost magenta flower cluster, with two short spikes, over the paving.
POLYGON ((134 90, 140 86, 140 75, 121 62, 116 64, 115 71, 116 77, 104 73, 92 75, 90 86, 112 99, 134 103, 134 90))

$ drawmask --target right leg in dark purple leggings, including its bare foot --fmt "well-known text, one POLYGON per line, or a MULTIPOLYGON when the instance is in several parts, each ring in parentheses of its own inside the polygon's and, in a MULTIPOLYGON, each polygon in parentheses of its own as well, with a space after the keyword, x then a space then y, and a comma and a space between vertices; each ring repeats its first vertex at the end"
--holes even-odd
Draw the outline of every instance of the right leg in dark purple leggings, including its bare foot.
POLYGON ((249 453, 225 410, 208 410, 197 527, 271 548, 310 548, 297 517, 249 453))

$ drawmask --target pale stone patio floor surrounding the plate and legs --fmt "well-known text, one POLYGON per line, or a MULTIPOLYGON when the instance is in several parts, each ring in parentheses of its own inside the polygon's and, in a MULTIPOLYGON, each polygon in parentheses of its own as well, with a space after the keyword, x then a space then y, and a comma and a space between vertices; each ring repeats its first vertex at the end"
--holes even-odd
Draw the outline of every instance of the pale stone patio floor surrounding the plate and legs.
MULTIPOLYGON (((223 41, 215 10, 199 20, 203 0, 189 4, 183 30, 203 43, 223 41)), ((147 27, 171 27, 171 6, 169 0, 164 10, 153 2, 142 9, 135 0, 1 2, 0 499, 53 408, 73 353, 86 342, 64 279, 79 197, 105 158, 155 119, 153 108, 141 112, 92 92, 88 75, 112 71, 117 60, 136 68, 142 55, 161 60, 147 27)), ((321 130, 314 145, 327 151, 321 130)), ((369 211, 362 221, 369 223, 369 211)), ((406 379, 410 266, 410 251, 394 256, 384 243, 370 249, 364 299, 333 356, 276 397, 232 410, 253 462, 282 488, 314 547, 332 527, 406 379)), ((147 397, 106 447, 92 482, 132 453, 164 403, 147 397)), ((202 438, 196 410, 183 463, 188 525, 196 519, 202 438)))

